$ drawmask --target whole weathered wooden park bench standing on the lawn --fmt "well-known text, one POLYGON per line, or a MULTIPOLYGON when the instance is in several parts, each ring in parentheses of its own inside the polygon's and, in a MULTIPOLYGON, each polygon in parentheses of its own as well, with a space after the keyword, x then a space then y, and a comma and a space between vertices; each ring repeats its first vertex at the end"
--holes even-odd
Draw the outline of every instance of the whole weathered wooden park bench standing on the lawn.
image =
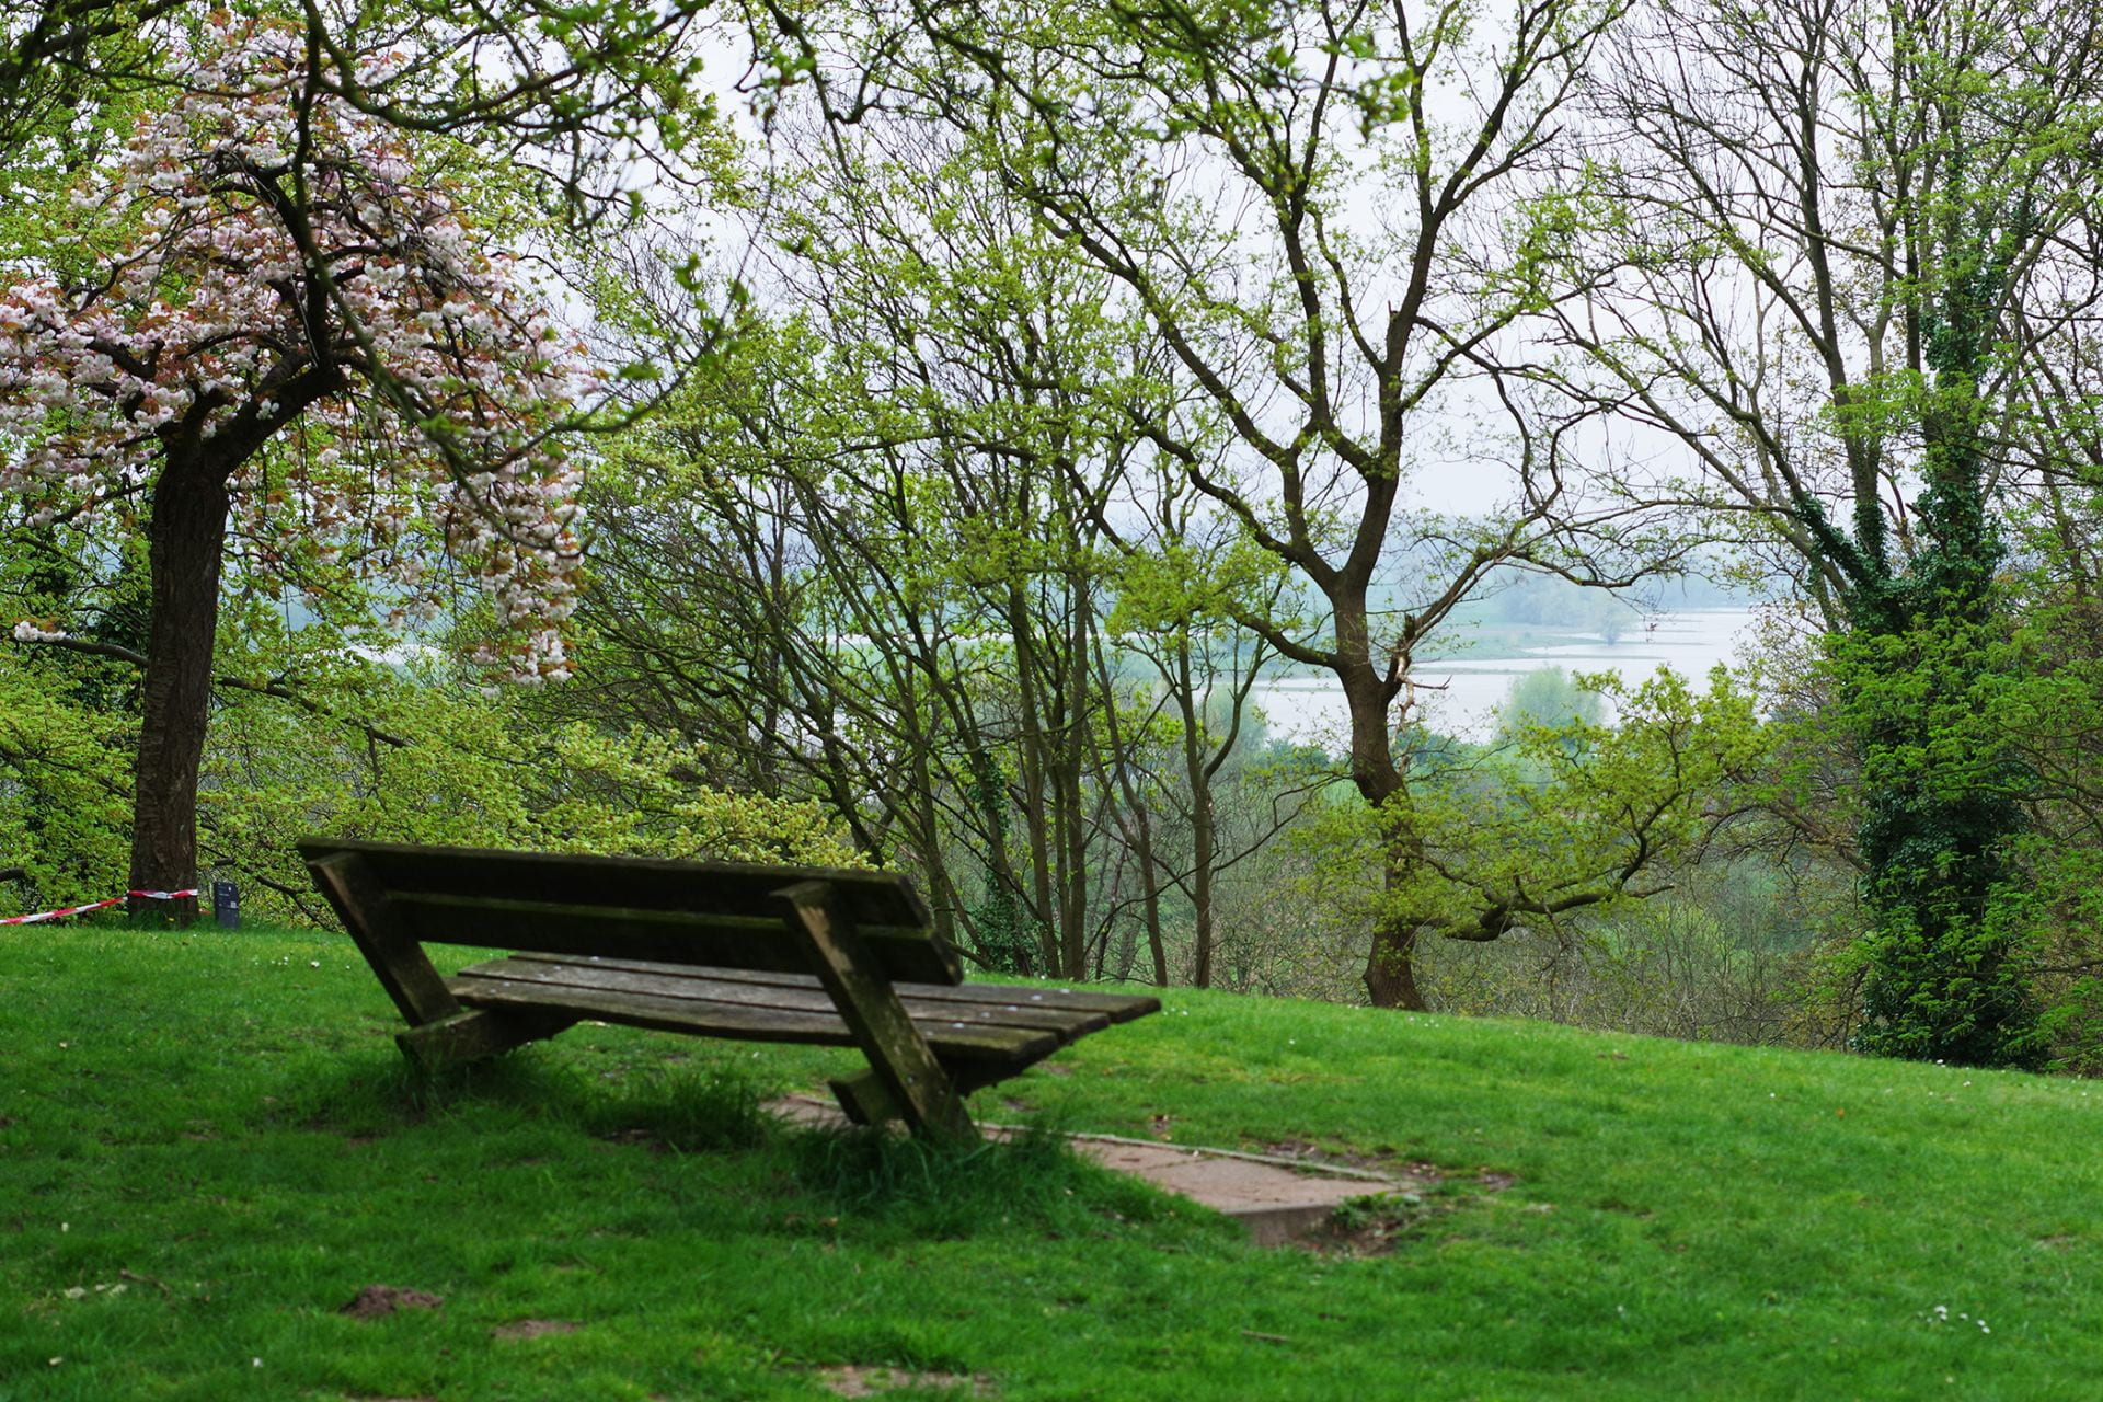
POLYGON ((963 1097, 1157 998, 965 984, 904 877, 307 839, 343 916, 435 1068, 593 1019, 860 1047, 833 1080, 858 1125, 972 1135, 963 1097), (517 950, 442 977, 425 944, 517 950))

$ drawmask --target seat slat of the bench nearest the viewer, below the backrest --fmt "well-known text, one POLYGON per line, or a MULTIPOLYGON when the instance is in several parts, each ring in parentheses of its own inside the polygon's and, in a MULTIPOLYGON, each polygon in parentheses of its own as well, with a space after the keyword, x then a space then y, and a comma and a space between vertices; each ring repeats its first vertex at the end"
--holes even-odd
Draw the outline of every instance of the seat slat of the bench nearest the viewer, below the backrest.
MULTIPOLYGON (((452 996, 467 1007, 540 1009, 574 1013, 597 1022, 660 1032, 698 1032, 751 1043, 801 1043, 816 1047, 852 1047, 839 1013, 723 1003, 719 998, 688 998, 671 994, 614 992, 576 984, 543 984, 503 977, 448 980, 452 996)), ((1041 1028, 1007 1028, 965 1024, 957 1019, 919 1022, 927 1045, 942 1057, 969 1061, 1030 1064, 1058 1051, 1062 1036, 1041 1028)))

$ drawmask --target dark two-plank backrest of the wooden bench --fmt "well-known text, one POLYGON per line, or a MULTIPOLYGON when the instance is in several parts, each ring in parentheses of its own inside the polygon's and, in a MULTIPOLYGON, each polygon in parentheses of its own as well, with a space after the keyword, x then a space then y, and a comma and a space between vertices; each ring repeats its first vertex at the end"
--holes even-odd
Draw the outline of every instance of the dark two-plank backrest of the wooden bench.
MULTIPOLYGON (((957 952, 930 929, 927 906, 904 877, 818 866, 585 858, 479 847, 408 847, 309 837, 309 868, 353 858, 366 923, 421 944, 473 944, 536 954, 599 954, 763 973, 808 973, 810 954, 789 937, 776 891, 805 881, 833 887, 881 969, 904 984, 961 984, 957 952)), ((330 889, 343 910, 343 895, 330 889)), ((339 883, 341 889, 341 883, 339 883)))

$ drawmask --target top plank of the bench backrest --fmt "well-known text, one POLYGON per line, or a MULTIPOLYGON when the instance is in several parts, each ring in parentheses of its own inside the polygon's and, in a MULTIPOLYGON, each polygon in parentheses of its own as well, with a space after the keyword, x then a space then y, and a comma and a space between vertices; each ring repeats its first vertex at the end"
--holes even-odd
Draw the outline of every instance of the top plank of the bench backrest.
POLYGON ((482 847, 410 847, 347 839, 303 839, 309 860, 355 851, 397 893, 442 891, 555 906, 620 906, 778 919, 774 891, 826 881, 856 927, 927 929, 932 916, 913 883, 892 872, 744 862, 669 862, 482 847))

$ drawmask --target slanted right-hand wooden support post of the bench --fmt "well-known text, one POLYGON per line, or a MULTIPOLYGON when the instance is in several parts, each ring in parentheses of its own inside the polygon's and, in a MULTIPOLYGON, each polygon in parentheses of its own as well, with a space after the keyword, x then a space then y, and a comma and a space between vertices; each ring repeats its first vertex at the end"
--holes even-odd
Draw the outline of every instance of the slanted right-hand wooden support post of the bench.
MULTIPOLYGON (((890 1093, 913 1133, 940 1139, 976 1139, 963 1097, 948 1072, 898 1003, 890 977, 854 931, 854 919, 833 898, 826 881, 799 881, 774 895, 782 923, 810 944, 818 982, 833 994, 839 1015, 869 1057, 869 1070, 890 1093)), ((957 1028, 946 1028, 953 1032, 957 1028)), ((991 1028, 988 1028, 991 1032, 991 1028)), ((1052 1034, 1041 1034, 1056 1043, 1052 1034)))

